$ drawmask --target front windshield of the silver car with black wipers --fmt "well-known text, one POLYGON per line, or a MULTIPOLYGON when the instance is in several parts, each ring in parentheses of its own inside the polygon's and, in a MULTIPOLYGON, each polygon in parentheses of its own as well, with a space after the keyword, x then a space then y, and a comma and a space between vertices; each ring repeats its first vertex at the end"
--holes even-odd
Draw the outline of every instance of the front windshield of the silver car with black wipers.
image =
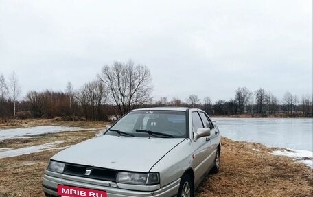
POLYGON ((119 121, 106 132, 106 135, 123 135, 122 132, 131 134, 124 135, 129 137, 185 138, 187 137, 186 112, 132 111, 119 119, 119 121))

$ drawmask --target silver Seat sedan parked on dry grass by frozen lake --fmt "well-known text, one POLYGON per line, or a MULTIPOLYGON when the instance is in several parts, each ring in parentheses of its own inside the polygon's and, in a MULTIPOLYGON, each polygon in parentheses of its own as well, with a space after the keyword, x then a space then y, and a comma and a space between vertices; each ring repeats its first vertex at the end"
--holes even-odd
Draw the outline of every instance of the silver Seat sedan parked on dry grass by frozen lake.
POLYGON ((196 108, 141 108, 51 157, 45 196, 194 196, 220 168, 220 131, 196 108))

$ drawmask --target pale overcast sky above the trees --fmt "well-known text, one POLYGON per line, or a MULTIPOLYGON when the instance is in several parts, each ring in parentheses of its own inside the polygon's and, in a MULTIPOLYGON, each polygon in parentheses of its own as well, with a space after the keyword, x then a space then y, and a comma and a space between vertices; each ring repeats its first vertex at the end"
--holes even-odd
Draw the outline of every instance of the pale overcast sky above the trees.
POLYGON ((113 61, 150 68, 155 100, 246 86, 312 93, 312 0, 0 0, 0 74, 23 93, 79 88, 113 61))

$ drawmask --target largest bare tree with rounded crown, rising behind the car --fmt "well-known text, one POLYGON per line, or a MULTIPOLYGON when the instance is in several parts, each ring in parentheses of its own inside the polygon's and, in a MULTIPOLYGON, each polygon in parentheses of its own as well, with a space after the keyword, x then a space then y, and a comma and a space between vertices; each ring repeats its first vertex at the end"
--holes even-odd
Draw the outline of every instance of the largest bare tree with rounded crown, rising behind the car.
POLYGON ((148 67, 135 65, 134 62, 114 62, 102 68, 100 80, 108 90, 109 100, 114 104, 119 115, 150 102, 152 78, 148 67))

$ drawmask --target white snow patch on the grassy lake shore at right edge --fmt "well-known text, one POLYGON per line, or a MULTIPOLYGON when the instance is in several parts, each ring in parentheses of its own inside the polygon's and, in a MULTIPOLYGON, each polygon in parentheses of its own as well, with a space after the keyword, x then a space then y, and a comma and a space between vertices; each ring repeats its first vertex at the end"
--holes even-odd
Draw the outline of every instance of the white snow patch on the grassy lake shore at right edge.
POLYGON ((313 152, 308 150, 294 150, 285 148, 283 151, 275 150, 272 154, 277 156, 291 157, 294 161, 304 163, 313 168, 313 152))

